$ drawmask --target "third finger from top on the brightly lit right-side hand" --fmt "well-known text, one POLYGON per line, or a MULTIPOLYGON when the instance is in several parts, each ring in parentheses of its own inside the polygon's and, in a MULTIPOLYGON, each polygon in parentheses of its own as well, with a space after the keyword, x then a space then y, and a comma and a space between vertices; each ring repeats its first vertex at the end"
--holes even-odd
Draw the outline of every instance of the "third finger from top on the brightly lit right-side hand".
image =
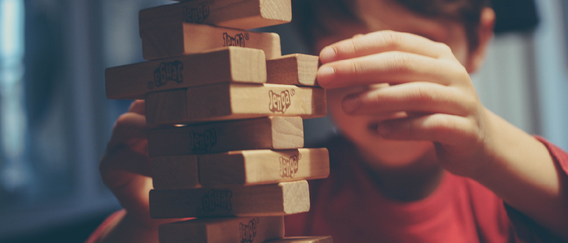
POLYGON ((477 107, 477 100, 455 87, 413 82, 348 95, 342 106, 351 115, 411 111, 466 116, 477 107))

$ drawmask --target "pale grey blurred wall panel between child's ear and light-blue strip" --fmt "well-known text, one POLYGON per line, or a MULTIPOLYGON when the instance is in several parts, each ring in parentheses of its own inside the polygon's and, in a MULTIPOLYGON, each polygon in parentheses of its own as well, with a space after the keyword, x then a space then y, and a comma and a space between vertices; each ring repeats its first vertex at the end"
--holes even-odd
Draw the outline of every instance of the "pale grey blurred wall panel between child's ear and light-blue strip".
POLYGON ((495 37, 486 61, 471 79, 485 107, 524 131, 540 133, 532 33, 495 37))

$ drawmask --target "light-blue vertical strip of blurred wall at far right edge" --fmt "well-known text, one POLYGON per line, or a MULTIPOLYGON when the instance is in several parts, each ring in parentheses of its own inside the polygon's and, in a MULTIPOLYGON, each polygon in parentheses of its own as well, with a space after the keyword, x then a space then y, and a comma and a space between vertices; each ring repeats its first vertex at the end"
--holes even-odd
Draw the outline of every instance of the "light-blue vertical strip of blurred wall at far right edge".
POLYGON ((542 135, 568 150, 568 3, 538 0, 541 24, 534 38, 542 135), (564 10, 564 11, 563 11, 564 10))

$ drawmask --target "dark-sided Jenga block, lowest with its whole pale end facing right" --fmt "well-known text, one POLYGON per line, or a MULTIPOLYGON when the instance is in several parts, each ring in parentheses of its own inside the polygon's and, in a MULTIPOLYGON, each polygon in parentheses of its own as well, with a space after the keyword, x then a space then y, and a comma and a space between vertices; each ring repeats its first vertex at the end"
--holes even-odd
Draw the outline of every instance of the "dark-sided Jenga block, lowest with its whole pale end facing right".
POLYGON ((307 181, 150 191, 150 216, 154 219, 283 216, 308 210, 307 181))

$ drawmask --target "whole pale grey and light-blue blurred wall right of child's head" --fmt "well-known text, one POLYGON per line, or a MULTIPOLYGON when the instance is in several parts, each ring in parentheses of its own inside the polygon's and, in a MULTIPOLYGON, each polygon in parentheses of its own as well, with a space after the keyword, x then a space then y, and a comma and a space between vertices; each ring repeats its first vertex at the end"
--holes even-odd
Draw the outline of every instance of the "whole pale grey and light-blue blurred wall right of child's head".
POLYGON ((540 24, 534 33, 497 35, 473 82, 491 111, 568 150, 568 3, 536 3, 540 24))

